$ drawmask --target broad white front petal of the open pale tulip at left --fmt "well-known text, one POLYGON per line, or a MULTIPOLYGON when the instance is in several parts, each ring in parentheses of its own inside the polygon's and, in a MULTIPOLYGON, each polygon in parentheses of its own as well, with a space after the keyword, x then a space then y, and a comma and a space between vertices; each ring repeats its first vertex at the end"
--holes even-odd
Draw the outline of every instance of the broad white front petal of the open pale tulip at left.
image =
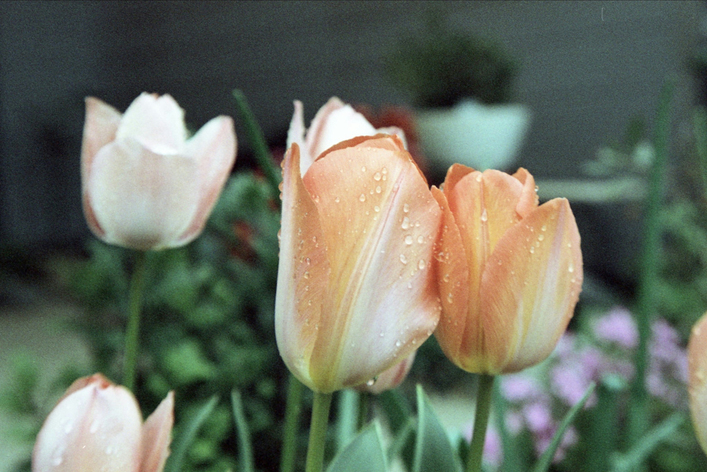
POLYGON ((197 211, 197 165, 130 139, 100 149, 86 185, 103 239, 145 250, 175 246, 197 211))

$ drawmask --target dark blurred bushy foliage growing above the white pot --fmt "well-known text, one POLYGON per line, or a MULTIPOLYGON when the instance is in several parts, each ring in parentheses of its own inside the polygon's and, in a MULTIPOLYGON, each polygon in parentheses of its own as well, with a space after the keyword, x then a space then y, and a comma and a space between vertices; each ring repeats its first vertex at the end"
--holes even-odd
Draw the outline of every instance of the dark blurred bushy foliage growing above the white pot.
POLYGON ((508 102, 518 71, 500 45, 450 28, 435 13, 428 16, 426 31, 399 42, 385 66, 420 107, 450 107, 462 98, 508 102))

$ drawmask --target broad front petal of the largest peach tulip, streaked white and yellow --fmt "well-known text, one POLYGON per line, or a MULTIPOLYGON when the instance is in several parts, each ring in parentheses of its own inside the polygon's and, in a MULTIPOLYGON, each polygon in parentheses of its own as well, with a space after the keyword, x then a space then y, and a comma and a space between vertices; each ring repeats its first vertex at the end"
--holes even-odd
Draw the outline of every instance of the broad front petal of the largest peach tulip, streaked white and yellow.
POLYGON ((310 366, 322 391, 356 386, 407 357, 440 311, 431 264, 439 206, 399 139, 349 143, 358 140, 329 149, 303 178, 331 267, 310 366))

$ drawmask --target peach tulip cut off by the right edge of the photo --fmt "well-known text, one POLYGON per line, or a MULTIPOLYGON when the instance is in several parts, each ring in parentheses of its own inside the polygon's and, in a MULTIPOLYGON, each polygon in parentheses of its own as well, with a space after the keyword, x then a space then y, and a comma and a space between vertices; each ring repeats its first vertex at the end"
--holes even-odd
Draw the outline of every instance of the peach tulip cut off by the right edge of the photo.
POLYGON ((692 425, 707 454, 707 313, 695 324, 687 343, 688 387, 692 425))

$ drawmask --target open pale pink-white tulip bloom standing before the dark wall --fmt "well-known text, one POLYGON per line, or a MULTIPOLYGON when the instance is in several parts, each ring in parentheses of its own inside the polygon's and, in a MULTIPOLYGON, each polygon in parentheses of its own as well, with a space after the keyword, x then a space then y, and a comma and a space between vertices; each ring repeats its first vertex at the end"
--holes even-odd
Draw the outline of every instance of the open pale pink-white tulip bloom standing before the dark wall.
POLYGON ((142 93, 124 115, 86 98, 83 211, 103 241, 139 250, 199 236, 235 160, 233 120, 220 116, 187 139, 184 110, 142 93))

